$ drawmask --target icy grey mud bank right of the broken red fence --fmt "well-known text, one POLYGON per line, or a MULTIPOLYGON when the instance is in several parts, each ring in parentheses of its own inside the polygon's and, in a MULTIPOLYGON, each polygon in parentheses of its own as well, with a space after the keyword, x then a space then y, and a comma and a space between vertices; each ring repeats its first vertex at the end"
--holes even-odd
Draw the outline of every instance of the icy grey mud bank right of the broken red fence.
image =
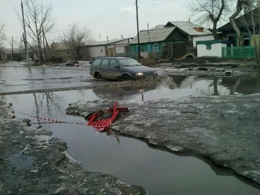
MULTIPOLYGON (((79 100, 66 113, 86 116, 112 104, 79 100)), ((119 101, 119 106, 127 106, 130 113, 118 117, 114 130, 175 152, 209 157, 260 184, 260 94, 119 101)))

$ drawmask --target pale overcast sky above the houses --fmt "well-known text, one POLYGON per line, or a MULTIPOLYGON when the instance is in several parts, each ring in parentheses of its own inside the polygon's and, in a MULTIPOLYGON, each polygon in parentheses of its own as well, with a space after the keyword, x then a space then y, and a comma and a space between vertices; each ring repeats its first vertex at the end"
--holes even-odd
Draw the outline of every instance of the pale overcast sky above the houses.
MULTIPOLYGON (((188 0, 139 0, 140 30, 152 28, 167 21, 188 21, 189 11, 185 8, 188 0)), ((57 19, 55 29, 46 34, 50 41, 59 38, 72 23, 86 26, 99 41, 135 36, 136 10, 135 0, 42 0, 43 4, 52 4, 53 17, 57 19)), ((1 0, 0 23, 6 25, 6 35, 10 39, 20 39, 22 28, 16 19, 13 7, 20 9, 20 0, 1 0)), ((5 45, 8 47, 8 44, 5 45)))

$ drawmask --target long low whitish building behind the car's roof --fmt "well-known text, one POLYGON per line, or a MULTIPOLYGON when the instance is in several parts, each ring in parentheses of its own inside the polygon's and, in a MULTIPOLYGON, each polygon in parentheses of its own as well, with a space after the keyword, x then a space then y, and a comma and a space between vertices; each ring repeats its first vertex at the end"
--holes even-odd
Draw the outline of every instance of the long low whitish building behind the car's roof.
POLYGON ((81 50, 83 58, 116 56, 117 53, 128 52, 128 43, 132 38, 115 39, 89 43, 81 50))

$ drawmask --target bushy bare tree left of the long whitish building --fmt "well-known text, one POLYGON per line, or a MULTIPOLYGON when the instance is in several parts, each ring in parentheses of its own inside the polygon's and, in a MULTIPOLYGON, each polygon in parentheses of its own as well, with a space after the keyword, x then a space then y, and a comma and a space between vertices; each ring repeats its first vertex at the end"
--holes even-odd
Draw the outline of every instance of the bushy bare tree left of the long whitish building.
POLYGON ((82 59, 82 46, 93 41, 91 31, 87 28, 79 28, 76 23, 66 33, 63 33, 61 39, 69 49, 74 51, 73 58, 75 60, 82 59))

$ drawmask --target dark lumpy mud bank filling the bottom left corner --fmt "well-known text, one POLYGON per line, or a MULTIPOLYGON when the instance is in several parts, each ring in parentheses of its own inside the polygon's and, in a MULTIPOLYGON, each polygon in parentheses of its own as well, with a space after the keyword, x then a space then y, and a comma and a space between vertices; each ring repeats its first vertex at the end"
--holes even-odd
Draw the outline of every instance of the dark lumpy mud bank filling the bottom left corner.
POLYGON ((51 132, 28 127, 0 100, 0 194, 147 194, 106 173, 87 172, 51 132))

